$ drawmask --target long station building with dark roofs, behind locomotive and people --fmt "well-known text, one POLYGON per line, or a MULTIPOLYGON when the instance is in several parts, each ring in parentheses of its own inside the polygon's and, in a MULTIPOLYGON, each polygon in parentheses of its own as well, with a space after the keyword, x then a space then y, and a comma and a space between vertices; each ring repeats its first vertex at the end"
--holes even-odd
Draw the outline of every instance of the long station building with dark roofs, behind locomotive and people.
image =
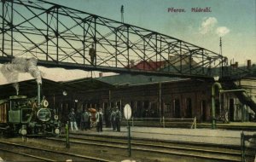
MULTIPOLYGON (((215 90, 216 119, 223 122, 255 120, 256 78, 220 80, 226 93, 215 90), (232 90, 246 90, 232 91, 232 90)), ((106 118, 110 110, 131 105, 133 118, 212 120, 212 84, 198 78, 168 78, 119 74, 82 78, 67 82, 43 79, 42 95, 65 122, 71 108, 81 113, 84 108, 103 108, 106 118)), ((11 84, 0 86, 1 98, 15 95, 11 84)), ((37 95, 35 80, 20 82, 20 95, 37 95)))

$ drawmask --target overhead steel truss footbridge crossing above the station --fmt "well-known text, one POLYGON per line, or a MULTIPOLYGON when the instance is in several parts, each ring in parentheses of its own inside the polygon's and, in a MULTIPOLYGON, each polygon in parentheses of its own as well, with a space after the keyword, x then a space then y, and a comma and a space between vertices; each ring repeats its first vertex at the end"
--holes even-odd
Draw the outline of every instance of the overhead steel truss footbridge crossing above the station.
POLYGON ((227 59, 159 32, 44 0, 1 0, 0 62, 36 57, 38 65, 185 78, 221 75, 227 59), (89 49, 94 44, 96 64, 89 49))

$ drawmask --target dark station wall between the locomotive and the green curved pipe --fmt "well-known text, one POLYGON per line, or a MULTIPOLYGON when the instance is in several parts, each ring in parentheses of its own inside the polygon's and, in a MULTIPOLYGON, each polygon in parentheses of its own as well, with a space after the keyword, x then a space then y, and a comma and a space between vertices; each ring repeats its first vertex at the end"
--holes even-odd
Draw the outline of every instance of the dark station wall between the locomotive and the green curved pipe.
MULTIPOLYGON (((72 96, 66 97, 62 102, 68 111, 73 107, 81 112, 83 108, 102 107, 108 112, 111 107, 118 105, 125 107, 128 103, 135 118, 197 118, 198 121, 211 120, 211 84, 198 80, 186 80, 171 83, 155 83, 142 85, 123 85, 107 90, 88 90, 79 92, 75 90, 72 96), (202 110, 202 101, 205 108, 202 110), (69 108, 67 108, 69 107, 69 108), (202 118, 202 115, 205 118, 202 118)), ((59 107, 61 105, 59 104, 59 107)), ((121 111, 122 111, 121 108, 121 111)), ((60 111, 61 112, 61 111, 60 111)))

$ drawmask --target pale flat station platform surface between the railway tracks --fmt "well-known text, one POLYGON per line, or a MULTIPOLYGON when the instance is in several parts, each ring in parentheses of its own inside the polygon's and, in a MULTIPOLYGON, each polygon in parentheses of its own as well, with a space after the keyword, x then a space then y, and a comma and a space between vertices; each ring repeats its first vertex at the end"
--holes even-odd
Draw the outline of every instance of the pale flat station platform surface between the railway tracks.
MULTIPOLYGON (((121 131, 113 131, 112 128, 103 128, 102 132, 92 130, 71 131, 95 136, 119 136, 127 137, 127 127, 121 127, 121 131)), ((211 130, 211 129, 181 129, 181 128, 156 128, 131 126, 131 138, 151 139, 170 142, 191 142, 209 145, 224 145, 229 147, 241 146, 242 130, 211 130)), ((243 131, 246 135, 256 135, 256 131, 243 131)))

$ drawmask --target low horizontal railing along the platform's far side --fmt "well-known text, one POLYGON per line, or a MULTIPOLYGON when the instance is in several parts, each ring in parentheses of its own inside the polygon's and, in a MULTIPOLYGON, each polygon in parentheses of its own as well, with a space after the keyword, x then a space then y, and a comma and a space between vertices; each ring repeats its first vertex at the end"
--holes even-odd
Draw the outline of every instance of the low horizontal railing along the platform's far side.
POLYGON ((146 125, 146 126, 161 126, 163 128, 176 125, 191 124, 191 129, 196 129, 196 117, 193 119, 172 119, 172 118, 131 118, 131 126, 135 125, 146 125))

